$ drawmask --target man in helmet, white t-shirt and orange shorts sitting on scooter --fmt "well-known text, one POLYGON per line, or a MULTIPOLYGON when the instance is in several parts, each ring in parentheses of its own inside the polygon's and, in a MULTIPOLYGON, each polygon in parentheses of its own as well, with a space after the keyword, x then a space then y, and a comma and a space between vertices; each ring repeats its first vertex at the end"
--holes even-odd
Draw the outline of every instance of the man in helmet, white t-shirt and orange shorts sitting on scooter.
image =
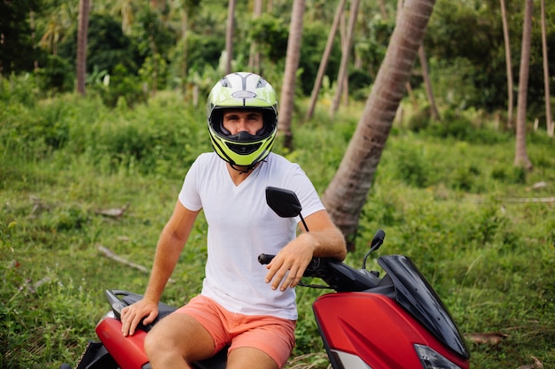
POLYGON ((122 334, 134 334, 141 320, 149 324, 158 315, 162 291, 203 210, 208 258, 202 291, 147 335, 152 368, 189 368, 226 346, 230 369, 282 368, 294 345, 294 287, 313 257, 345 258, 345 241, 301 167, 270 152, 277 133, 270 83, 254 73, 225 76, 208 96, 207 123, 215 152, 201 154, 185 176, 145 297, 122 311, 122 334), (268 186, 297 194, 309 233, 297 236, 299 219, 271 211, 268 186), (276 258, 260 265, 261 253, 276 258))

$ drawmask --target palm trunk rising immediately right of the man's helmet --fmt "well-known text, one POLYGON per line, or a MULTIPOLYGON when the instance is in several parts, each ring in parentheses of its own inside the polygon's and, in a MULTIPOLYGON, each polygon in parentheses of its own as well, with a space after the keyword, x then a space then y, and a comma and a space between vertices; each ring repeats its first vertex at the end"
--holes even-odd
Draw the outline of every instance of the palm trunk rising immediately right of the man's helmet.
POLYGON ((285 57, 284 81, 281 88, 281 108, 279 109, 277 129, 285 135, 284 146, 287 149, 293 147, 291 119, 293 118, 293 100, 295 96, 297 68, 299 67, 299 60, 301 59, 304 7, 305 0, 293 1, 293 11, 291 13, 291 24, 289 27, 289 38, 287 40, 287 52, 285 57))

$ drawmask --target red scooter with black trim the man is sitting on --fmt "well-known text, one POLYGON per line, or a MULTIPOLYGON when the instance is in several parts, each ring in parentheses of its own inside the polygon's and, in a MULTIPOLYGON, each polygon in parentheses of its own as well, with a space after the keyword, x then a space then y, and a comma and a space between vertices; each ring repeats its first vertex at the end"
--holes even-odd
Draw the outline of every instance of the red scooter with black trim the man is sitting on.
MULTIPOLYGON (((266 188, 266 201, 280 217, 301 217, 297 196, 282 188, 266 188)), ((301 217, 304 224, 304 219, 301 217)), ((306 224, 305 224, 306 227, 306 224)), ((335 293, 317 298, 313 310, 320 335, 334 369, 467 369, 470 353, 440 297, 410 258, 388 255, 378 259, 385 271, 367 271, 366 259, 379 249, 385 232, 379 230, 363 267, 354 269, 337 260, 314 258, 304 273, 323 280, 335 293)), ((261 264, 273 256, 260 255, 261 264)), ((99 342, 90 342, 76 369, 148 369, 143 344, 152 325, 121 334, 121 309, 142 296, 106 290, 112 310, 98 322, 99 342)), ((175 308, 159 306, 161 319, 175 308)), ((224 369, 227 351, 194 363, 197 369, 224 369)), ((61 369, 70 368, 62 365, 61 369)))

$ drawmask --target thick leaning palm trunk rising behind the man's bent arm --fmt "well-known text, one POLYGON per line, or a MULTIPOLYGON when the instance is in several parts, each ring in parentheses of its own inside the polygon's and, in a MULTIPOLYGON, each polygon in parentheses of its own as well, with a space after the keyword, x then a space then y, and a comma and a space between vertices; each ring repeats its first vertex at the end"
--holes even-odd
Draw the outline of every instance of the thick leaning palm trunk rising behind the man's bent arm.
POLYGON ((407 0, 355 135, 326 188, 323 202, 354 250, 358 217, 409 80, 435 0, 407 0))

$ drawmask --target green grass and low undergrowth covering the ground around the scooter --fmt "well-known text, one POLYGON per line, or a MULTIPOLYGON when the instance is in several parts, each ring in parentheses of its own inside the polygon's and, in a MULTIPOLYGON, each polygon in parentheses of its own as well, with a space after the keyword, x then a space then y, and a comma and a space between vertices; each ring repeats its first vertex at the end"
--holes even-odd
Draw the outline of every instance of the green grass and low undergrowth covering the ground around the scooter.
MULTIPOLYGON (((95 339, 108 308, 105 288, 142 293, 147 283, 147 274, 104 257, 98 245, 150 267, 184 174, 210 147, 203 109, 173 94, 134 110, 76 96, 24 103, 0 102, 0 366, 59 367, 74 364, 95 339), (97 213, 126 204, 121 219, 97 213)), ((301 164, 323 192, 359 107, 333 121, 317 112, 318 119, 294 126, 295 149, 277 152, 301 164)), ((535 169, 526 173, 512 165, 512 135, 481 120, 482 127, 471 117, 465 129, 457 121, 418 133, 394 127, 347 263, 360 266, 372 235, 384 228, 376 256, 412 258, 464 334, 504 334, 496 345, 469 342, 473 367, 518 368, 533 357, 555 367, 554 203, 512 200, 555 196, 553 141, 529 132, 535 169), (540 181, 547 186, 531 189, 540 181)), ((176 283, 165 290, 169 304, 199 292, 205 226, 199 219, 176 283)), ((321 293, 298 290, 290 367, 326 366, 311 315, 321 293)))

